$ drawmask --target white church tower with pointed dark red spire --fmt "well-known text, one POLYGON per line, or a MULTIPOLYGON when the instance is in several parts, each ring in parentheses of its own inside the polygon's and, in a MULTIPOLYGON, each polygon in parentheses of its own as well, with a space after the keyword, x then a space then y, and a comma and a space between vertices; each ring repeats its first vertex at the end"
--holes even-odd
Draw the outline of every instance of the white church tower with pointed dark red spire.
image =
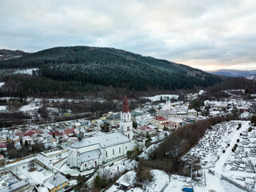
POLYGON ((119 126, 120 126, 121 130, 123 131, 123 133, 130 140, 132 140, 134 138, 133 122, 132 122, 131 112, 130 112, 130 108, 129 108, 129 104, 128 104, 126 96, 122 103, 122 111, 121 111, 119 126))

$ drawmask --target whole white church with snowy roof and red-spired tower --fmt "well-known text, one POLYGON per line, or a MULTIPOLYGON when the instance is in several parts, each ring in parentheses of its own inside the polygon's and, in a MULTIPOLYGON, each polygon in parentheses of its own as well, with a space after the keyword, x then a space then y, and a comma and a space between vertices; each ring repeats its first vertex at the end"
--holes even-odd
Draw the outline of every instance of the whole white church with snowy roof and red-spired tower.
POLYGON ((128 150, 134 150, 134 129, 126 96, 123 101, 119 129, 119 132, 78 138, 70 146, 67 165, 70 168, 76 167, 80 171, 90 170, 104 162, 125 157, 128 150))

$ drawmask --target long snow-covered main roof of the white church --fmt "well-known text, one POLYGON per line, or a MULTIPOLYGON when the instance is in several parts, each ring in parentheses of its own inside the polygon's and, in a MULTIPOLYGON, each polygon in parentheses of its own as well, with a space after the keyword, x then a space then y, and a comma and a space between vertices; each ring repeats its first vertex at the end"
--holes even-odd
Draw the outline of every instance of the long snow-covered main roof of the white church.
POLYGON ((70 147, 71 148, 82 148, 85 146, 93 146, 99 144, 102 148, 107 146, 115 146, 121 143, 130 142, 129 138, 126 137, 122 132, 102 134, 90 138, 83 138, 82 140, 77 140, 70 147))

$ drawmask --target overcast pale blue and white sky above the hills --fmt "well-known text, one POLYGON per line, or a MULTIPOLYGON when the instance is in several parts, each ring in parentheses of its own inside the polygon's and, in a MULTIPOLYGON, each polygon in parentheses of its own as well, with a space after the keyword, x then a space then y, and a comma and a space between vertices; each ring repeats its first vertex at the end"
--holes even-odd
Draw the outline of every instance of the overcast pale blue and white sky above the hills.
POLYGON ((202 70, 256 70, 256 1, 0 0, 0 49, 77 45, 202 70))

